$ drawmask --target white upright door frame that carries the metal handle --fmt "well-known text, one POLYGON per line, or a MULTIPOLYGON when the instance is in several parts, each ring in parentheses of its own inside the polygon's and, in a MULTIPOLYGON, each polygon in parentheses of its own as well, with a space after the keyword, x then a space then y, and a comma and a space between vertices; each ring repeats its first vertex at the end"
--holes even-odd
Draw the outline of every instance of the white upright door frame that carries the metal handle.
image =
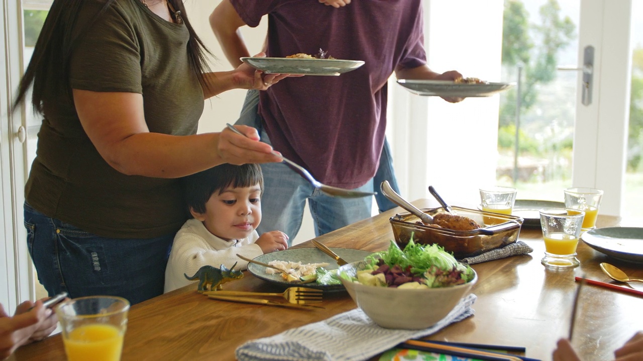
POLYGON ((583 49, 594 50, 593 102, 581 103, 579 75, 572 184, 604 190, 601 214, 620 216, 627 162, 631 0, 582 0, 579 67, 583 49))

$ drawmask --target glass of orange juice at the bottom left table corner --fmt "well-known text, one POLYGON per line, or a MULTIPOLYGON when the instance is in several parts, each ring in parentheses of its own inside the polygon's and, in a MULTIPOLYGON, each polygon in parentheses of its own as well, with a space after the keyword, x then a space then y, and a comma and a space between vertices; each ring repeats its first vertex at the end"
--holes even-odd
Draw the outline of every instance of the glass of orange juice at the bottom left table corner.
POLYGON ((56 308, 68 361, 119 361, 129 301, 113 296, 71 299, 56 308))

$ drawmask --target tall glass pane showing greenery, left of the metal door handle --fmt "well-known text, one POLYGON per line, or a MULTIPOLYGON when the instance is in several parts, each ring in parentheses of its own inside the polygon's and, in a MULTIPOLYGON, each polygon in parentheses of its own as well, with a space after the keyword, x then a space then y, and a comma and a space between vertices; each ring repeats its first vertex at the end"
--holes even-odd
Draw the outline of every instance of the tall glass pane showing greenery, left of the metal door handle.
POLYGON ((572 182, 578 63, 578 0, 505 0, 498 184, 518 198, 562 200, 572 182), (519 111, 516 111, 519 109, 519 111))

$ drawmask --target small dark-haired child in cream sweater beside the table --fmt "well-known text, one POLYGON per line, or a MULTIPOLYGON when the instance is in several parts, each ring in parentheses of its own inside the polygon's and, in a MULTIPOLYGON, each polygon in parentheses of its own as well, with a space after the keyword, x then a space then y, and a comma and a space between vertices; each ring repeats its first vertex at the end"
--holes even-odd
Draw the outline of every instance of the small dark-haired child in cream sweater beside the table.
POLYGON ((257 164, 221 164, 183 179, 188 209, 194 218, 174 237, 165 269, 165 292, 189 285, 204 265, 231 269, 248 262, 237 254, 255 258, 288 247, 288 236, 271 231, 258 236, 264 178, 257 164))

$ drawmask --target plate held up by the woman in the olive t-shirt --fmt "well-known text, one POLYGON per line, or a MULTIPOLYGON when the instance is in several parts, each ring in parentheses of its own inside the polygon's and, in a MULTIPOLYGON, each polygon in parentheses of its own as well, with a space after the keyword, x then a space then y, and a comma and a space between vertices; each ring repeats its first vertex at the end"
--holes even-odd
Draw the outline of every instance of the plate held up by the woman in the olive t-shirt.
POLYGON ((318 58, 255 58, 242 57, 241 61, 264 73, 331 75, 337 76, 364 65, 361 60, 318 58))

